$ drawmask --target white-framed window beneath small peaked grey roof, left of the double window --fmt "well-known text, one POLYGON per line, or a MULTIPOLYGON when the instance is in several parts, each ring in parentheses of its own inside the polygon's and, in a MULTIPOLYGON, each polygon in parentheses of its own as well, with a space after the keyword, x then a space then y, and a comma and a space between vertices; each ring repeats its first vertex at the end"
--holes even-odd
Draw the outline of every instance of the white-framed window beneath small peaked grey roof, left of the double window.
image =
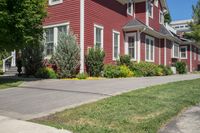
POLYGON ((136 33, 126 34, 125 54, 129 55, 132 61, 136 61, 136 33))

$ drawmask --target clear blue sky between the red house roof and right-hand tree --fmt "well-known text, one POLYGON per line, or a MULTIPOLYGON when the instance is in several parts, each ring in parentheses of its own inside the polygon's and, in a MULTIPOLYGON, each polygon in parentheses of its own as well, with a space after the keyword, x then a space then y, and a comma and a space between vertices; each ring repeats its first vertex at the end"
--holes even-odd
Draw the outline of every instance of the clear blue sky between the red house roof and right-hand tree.
POLYGON ((184 20, 192 18, 192 5, 197 0, 167 0, 172 20, 184 20))

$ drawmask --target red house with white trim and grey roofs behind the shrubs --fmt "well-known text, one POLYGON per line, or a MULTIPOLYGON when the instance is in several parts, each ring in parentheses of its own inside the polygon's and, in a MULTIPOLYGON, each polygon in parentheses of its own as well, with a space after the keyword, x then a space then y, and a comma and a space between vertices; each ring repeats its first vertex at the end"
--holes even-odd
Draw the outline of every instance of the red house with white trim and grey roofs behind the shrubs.
POLYGON ((165 0, 49 0, 45 53, 54 52, 59 32, 71 30, 81 48, 81 72, 84 55, 94 46, 105 51, 105 63, 127 54, 133 61, 169 66, 183 60, 188 70, 197 70, 199 48, 164 24, 167 12, 165 0))

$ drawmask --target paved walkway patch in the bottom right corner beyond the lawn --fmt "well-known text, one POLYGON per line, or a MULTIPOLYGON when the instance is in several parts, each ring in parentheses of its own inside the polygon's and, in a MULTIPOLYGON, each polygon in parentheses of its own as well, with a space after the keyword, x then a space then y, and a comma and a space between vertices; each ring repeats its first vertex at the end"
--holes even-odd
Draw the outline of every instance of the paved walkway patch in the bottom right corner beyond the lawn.
POLYGON ((200 133, 200 106, 183 112, 159 133, 200 133))

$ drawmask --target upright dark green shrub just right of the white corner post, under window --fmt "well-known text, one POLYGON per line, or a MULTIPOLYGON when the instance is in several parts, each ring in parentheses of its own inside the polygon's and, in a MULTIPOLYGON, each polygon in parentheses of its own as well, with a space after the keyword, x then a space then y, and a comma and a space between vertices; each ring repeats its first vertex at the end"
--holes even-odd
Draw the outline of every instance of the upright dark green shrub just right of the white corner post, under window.
POLYGON ((100 48, 89 49, 88 55, 85 57, 87 73, 92 77, 99 77, 104 67, 105 53, 100 48))

